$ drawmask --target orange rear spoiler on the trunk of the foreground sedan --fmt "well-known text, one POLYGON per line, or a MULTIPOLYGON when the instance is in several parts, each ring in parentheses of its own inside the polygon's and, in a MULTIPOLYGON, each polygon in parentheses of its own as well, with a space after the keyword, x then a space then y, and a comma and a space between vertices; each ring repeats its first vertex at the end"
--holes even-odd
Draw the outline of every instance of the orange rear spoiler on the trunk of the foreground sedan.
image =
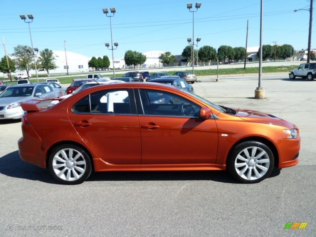
POLYGON ((49 98, 49 99, 33 99, 21 103, 21 107, 26 112, 39 112, 47 109, 54 104, 64 100, 64 98, 49 98), (53 102, 54 101, 54 102, 53 102))

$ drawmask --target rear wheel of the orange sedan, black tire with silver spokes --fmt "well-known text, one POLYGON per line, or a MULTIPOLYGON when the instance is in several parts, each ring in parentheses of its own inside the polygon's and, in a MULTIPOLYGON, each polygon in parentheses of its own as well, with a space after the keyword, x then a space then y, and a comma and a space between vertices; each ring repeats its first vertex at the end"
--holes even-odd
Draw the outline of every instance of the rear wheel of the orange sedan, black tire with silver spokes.
POLYGON ((91 159, 82 148, 63 144, 52 149, 48 158, 48 169, 61 184, 81 184, 91 174, 91 159))

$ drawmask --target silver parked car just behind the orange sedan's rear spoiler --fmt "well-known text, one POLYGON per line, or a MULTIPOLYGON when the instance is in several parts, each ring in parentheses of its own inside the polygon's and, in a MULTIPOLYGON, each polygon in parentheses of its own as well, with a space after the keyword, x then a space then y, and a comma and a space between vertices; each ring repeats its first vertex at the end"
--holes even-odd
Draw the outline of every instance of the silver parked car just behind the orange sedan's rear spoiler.
POLYGON ((46 84, 19 84, 6 88, 0 95, 0 119, 21 119, 21 102, 32 99, 58 98, 58 91, 46 84))

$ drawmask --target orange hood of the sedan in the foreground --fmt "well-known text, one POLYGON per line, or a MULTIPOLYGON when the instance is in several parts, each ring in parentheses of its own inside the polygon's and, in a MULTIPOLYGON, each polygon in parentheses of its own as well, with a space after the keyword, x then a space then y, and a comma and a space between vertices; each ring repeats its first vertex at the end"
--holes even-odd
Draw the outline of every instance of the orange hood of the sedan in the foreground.
POLYGON ((280 119, 272 114, 249 110, 249 109, 234 109, 236 111, 235 116, 238 116, 240 119, 253 121, 257 123, 267 123, 273 125, 281 125, 286 127, 294 127, 290 122, 280 119))

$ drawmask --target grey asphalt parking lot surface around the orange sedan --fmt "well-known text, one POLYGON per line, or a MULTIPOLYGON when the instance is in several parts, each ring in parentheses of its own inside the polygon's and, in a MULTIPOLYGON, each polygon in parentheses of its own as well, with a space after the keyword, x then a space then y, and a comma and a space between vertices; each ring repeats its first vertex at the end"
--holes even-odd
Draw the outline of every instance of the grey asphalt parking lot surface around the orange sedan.
POLYGON ((300 128, 297 166, 252 185, 219 171, 95 173, 81 185, 59 185, 21 161, 21 122, 0 120, 0 236, 315 236, 316 81, 263 75, 266 98, 256 100, 257 75, 215 79, 200 78, 195 93, 300 128), (307 226, 284 229, 287 222, 307 226))

